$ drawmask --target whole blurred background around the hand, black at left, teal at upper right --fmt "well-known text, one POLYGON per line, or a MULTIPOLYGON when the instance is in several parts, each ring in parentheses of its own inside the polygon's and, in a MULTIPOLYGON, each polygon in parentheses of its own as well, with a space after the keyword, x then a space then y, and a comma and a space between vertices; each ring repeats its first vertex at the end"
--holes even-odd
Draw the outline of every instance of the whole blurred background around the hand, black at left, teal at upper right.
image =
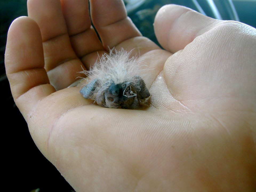
MULTIPOLYGON (((166 4, 178 4, 204 15, 223 20, 235 20, 256 27, 256 0, 124 0, 128 16, 141 33, 158 44, 153 22, 157 11, 166 4)), ((57 169, 35 146, 27 124, 11 96, 5 74, 4 53, 7 31, 19 16, 27 16, 26 0, 0 0, 0 87, 3 101, 2 146, 3 165, 8 171, 3 189, 14 191, 74 191, 57 169), (28 176, 27 176, 28 175, 28 176), (7 183, 13 183, 6 186, 7 183)), ((159 45, 159 44, 158 44, 159 45)))

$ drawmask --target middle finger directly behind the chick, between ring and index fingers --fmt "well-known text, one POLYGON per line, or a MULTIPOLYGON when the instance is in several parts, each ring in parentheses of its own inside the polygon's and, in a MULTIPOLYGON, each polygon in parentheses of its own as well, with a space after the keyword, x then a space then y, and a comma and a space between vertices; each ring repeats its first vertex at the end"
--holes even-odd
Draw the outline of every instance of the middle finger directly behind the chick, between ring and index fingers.
POLYGON ((61 0, 61 6, 71 45, 77 56, 89 69, 98 57, 96 52, 105 51, 91 26, 89 3, 85 0, 61 0))

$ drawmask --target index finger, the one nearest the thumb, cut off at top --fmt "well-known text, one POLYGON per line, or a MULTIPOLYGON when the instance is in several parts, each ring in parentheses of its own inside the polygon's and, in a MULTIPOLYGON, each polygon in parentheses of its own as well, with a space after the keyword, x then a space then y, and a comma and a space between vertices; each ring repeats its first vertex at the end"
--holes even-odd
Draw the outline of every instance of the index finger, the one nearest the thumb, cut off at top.
POLYGON ((114 47, 119 43, 141 36, 129 17, 121 0, 90 1, 91 19, 103 46, 114 47))

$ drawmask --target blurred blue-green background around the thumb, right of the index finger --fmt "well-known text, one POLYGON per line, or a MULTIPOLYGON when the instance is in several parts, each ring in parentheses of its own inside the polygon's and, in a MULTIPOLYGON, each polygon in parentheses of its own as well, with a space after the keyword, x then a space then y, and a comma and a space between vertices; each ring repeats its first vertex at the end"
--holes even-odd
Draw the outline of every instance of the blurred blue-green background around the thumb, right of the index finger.
POLYGON ((154 18, 164 5, 189 7, 212 18, 236 20, 256 27, 256 1, 253 0, 124 0, 127 14, 142 35, 159 45, 154 34, 154 18))

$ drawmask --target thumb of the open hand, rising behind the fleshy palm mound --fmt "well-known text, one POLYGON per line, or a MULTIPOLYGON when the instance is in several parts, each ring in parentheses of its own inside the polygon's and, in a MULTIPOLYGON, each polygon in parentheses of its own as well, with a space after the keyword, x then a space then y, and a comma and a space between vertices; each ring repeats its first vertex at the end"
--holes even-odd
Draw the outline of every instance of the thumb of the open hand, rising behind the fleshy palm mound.
POLYGON ((154 30, 161 46, 175 53, 221 22, 187 7, 165 5, 157 12, 154 30))

